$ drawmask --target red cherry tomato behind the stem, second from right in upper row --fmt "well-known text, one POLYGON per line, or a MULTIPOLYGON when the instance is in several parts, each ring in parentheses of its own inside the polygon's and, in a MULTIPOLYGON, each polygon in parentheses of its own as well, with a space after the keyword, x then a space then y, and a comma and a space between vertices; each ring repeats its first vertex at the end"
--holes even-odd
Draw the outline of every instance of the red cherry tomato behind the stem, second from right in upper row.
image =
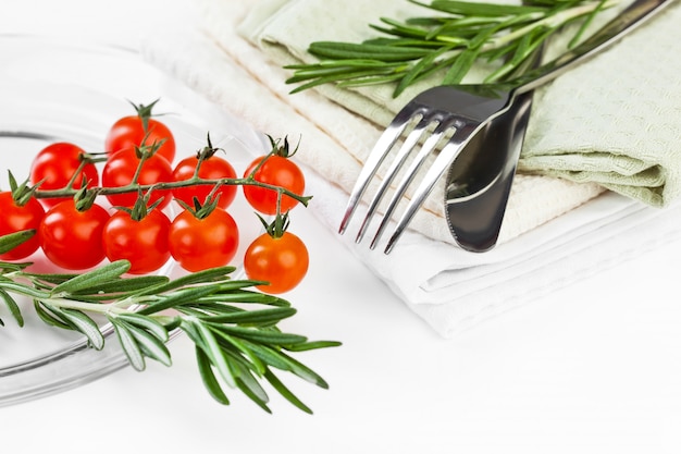
MULTIPOLYGON (((198 162, 199 160, 196 156, 183 159, 175 167, 173 179, 175 181, 189 180, 194 176, 198 162)), ((201 162, 199 176, 203 180, 234 179, 236 177, 236 171, 230 162, 213 155, 201 162)), ((203 204, 206 197, 212 189, 212 185, 178 187, 173 189, 173 197, 191 207, 194 206, 194 197, 196 197, 200 204, 203 204)), ((223 185, 218 189, 218 194, 220 194, 218 206, 226 209, 236 197, 236 186, 223 185)))

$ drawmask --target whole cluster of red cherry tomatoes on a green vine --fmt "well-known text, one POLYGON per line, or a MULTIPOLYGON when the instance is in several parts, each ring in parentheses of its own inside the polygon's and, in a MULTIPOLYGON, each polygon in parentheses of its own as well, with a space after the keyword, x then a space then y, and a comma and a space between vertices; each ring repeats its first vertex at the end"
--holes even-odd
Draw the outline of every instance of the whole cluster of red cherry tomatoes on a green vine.
POLYGON ((246 250, 246 274, 267 281, 259 287, 268 293, 295 287, 309 262, 305 244, 286 230, 288 211, 299 200, 272 188, 302 196, 304 174, 288 159, 288 142, 272 139, 272 152, 255 159, 242 180, 210 138, 207 147, 173 167, 175 139, 164 123, 151 118, 152 106, 138 106, 136 115, 113 123, 106 152, 99 155, 101 172, 98 155, 75 144, 51 144, 37 154, 30 184, 12 181, 12 191, 0 193, 0 235, 25 230, 36 235, 0 259, 21 260, 40 248, 54 265, 70 270, 92 268, 104 259, 128 260, 129 272, 136 274, 159 270, 171 258, 187 271, 225 266, 239 243, 227 208, 240 185, 256 211, 274 216, 271 224, 261 218, 267 229, 246 250), (104 208, 102 197, 114 208, 104 208), (173 199, 182 209, 170 219, 163 208, 173 199))

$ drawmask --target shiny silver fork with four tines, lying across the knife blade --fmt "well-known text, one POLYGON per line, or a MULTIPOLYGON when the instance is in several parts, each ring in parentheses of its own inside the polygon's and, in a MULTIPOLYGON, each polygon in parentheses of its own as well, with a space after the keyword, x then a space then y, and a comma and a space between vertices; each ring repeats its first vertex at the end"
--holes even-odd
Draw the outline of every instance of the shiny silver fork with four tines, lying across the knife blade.
POLYGON ((407 188, 429 156, 437 152, 432 165, 425 171, 417 186, 411 200, 408 201, 401 217, 397 220, 384 249, 385 254, 389 254, 443 173, 457 159, 467 144, 493 119, 508 111, 520 95, 554 79, 569 68, 617 41, 626 33, 643 23, 645 19, 652 16, 653 12, 661 10, 661 7, 672 1, 636 0, 580 46, 511 82, 496 85, 438 86, 416 96, 395 115, 374 145, 350 193, 339 233, 346 232, 372 179, 403 134, 408 132, 376 193, 368 203, 367 213, 356 237, 357 243, 362 241, 392 182, 398 172, 404 171, 404 176, 387 203, 370 247, 373 249, 377 245, 407 188), (405 170, 408 158, 412 157, 420 143, 422 146, 405 170))

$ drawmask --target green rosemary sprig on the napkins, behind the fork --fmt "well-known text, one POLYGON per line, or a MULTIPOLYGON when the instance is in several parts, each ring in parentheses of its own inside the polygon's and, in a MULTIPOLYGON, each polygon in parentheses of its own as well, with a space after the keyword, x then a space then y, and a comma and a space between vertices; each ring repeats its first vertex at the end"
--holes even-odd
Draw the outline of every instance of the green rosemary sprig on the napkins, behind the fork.
POLYGON ((382 35, 363 42, 310 44, 308 51, 319 62, 285 66, 294 70, 286 82, 300 84, 292 93, 329 83, 342 87, 391 83, 397 97, 424 78, 433 78, 433 85, 460 84, 478 61, 496 65, 484 83, 502 82, 520 75, 523 62, 543 42, 581 20, 570 40, 570 46, 577 44, 597 13, 621 0, 408 1, 436 14, 406 21, 382 17, 381 25, 370 24, 382 35))

